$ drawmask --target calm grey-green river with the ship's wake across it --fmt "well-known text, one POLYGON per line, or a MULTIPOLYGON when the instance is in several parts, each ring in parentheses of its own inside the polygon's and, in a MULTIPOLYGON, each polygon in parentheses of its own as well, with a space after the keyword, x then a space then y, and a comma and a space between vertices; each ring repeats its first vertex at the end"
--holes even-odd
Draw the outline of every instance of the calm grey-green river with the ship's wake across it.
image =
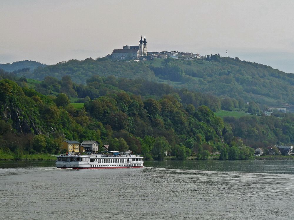
POLYGON ((54 163, 0 161, 0 219, 294 219, 294 160, 54 163))

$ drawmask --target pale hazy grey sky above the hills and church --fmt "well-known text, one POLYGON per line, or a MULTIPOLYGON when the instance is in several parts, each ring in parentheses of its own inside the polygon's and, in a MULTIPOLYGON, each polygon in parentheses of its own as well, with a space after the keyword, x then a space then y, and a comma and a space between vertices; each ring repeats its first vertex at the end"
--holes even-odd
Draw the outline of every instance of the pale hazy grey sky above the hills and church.
POLYGON ((146 36, 176 50, 294 72, 294 1, 0 0, 0 62, 103 57, 146 36))

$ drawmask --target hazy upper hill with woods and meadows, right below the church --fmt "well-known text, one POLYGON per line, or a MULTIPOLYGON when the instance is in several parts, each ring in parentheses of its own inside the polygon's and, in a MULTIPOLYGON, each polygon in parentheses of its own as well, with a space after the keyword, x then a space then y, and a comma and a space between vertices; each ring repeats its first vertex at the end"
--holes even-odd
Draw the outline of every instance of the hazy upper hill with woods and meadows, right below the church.
POLYGON ((26 73, 27 78, 38 80, 46 76, 61 79, 65 75, 83 84, 93 75, 142 78, 220 98, 230 97, 233 102, 243 102, 242 105, 256 102, 262 108, 294 104, 294 74, 230 57, 219 57, 218 62, 171 58, 140 62, 107 58, 69 60, 26 73))

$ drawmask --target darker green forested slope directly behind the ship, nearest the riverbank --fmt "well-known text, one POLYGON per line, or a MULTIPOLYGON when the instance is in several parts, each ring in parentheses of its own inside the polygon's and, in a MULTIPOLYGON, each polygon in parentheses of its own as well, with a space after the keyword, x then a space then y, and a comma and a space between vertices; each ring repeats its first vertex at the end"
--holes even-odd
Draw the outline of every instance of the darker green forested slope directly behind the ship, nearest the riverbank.
POLYGON ((241 151, 238 148, 237 156, 230 156, 230 149, 237 149, 238 145, 230 126, 202 105, 208 97, 192 104, 182 101, 183 90, 150 82, 148 86, 148 81, 147 88, 136 89, 137 80, 111 76, 93 76, 87 85, 74 84, 70 77, 62 80, 46 77, 43 82, 30 84, 24 77, 12 81, 8 78, 13 75, 2 72, 0 76, 3 78, 0 80, 1 150, 58 153, 64 139, 92 139, 109 144, 111 150, 131 149, 146 158, 151 155, 162 158, 164 152, 177 159, 191 154, 206 159, 217 151, 228 152, 224 159, 248 159, 253 155, 252 148, 243 146, 241 151), (91 91, 85 89, 93 85, 103 94, 91 99, 88 96, 91 91), (144 97, 118 85, 132 87, 136 93, 142 89, 144 97), (56 91, 63 86, 67 86, 63 89, 70 97, 81 97, 85 102, 83 108, 75 109, 65 93, 44 95, 34 89, 46 91, 49 87, 56 91), (158 94, 154 91, 156 86, 161 86, 156 90, 158 94))

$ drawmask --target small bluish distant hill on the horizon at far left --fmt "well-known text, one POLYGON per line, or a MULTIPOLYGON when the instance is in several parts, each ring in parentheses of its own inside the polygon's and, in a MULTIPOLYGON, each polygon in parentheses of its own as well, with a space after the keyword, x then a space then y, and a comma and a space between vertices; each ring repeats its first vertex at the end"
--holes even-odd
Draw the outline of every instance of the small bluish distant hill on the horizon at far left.
MULTIPOLYGON (((37 67, 45 67, 47 66, 46 64, 42 64, 40 62, 36 61, 31 61, 31 60, 22 60, 22 61, 17 61, 13 63, 6 63, 6 64, 0 64, 0 68, 7 71, 7 72, 13 72, 13 71, 18 71, 18 70, 23 70, 27 71, 29 68, 30 72, 33 72, 34 69, 37 67)), ((21 72, 21 71, 18 71, 21 72)))

